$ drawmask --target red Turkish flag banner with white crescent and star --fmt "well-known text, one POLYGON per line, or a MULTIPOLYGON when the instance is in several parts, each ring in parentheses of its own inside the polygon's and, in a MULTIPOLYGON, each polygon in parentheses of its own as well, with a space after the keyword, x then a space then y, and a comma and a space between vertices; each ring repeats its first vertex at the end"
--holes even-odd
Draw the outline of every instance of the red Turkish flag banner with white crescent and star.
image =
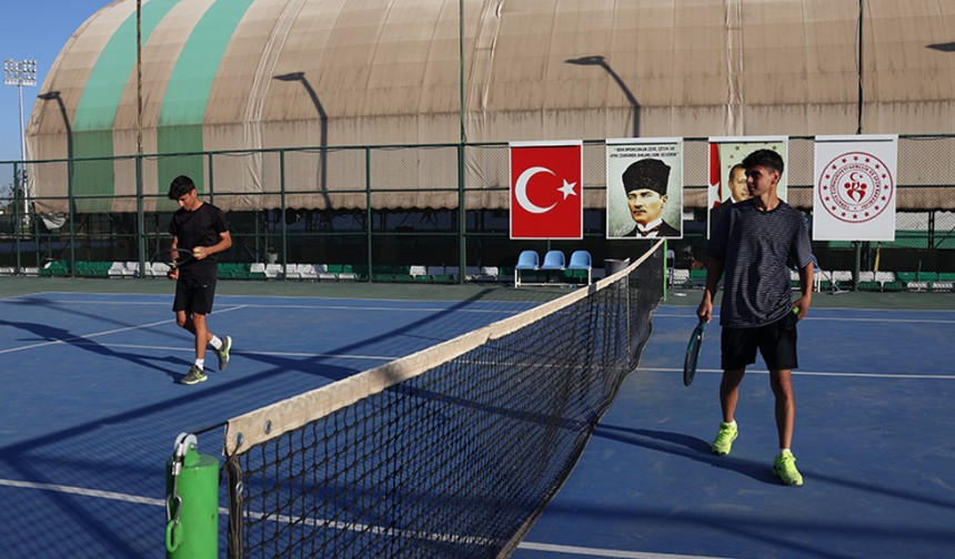
POLYGON ((583 238, 583 142, 511 142, 511 238, 583 238))

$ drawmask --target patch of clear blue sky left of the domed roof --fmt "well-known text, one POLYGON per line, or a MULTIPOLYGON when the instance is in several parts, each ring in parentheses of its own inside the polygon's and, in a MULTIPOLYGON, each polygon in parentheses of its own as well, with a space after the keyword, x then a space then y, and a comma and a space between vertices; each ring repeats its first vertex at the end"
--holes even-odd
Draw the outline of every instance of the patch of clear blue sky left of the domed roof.
MULTIPOLYGON (((3 2, 0 58, 37 61, 37 87, 23 88, 23 124, 30 119, 40 87, 76 32, 110 0, 17 0, 3 2)), ((19 161, 20 101, 18 88, 0 84, 0 161, 19 161)), ((0 165, 0 191, 13 182, 12 165, 0 165)))

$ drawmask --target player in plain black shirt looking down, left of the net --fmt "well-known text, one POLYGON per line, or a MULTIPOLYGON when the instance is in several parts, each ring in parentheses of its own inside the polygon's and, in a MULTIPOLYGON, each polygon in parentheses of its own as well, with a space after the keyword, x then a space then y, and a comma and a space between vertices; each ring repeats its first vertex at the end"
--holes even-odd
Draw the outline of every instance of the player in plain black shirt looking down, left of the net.
POLYGON ((195 336, 195 363, 180 380, 192 385, 205 380, 205 345, 211 344, 219 357, 219 370, 229 364, 232 338, 215 336, 205 326, 205 315, 212 312, 215 296, 215 254, 232 246, 225 214, 212 204, 199 200, 192 179, 177 176, 169 186, 169 199, 179 202, 172 215, 169 233, 173 248, 188 248, 192 257, 169 271, 175 280, 175 324, 195 336))

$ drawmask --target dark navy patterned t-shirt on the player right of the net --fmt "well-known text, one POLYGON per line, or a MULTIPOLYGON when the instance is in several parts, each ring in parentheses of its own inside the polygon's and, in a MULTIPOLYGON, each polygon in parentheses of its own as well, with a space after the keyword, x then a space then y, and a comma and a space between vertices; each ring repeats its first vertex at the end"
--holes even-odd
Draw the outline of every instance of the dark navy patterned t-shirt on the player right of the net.
POLYGON ((782 201, 768 212, 752 200, 731 205, 704 252, 725 260, 720 324, 727 328, 763 326, 792 312, 790 270, 813 262, 805 216, 782 201))

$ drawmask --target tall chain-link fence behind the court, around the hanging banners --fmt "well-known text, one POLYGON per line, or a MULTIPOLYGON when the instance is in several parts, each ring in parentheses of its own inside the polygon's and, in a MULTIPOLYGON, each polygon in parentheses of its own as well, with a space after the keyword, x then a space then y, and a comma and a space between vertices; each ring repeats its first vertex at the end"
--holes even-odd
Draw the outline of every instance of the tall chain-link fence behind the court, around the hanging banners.
MULTIPOLYGON (((953 151, 951 136, 899 139, 895 241, 813 242, 824 287, 952 288, 953 151)), ((683 152, 683 238, 668 247, 674 282, 698 284, 708 140, 685 139, 683 152)), ((810 218, 813 154, 812 138, 790 138, 788 202, 810 218)), ((220 263, 229 277, 509 282, 525 250, 585 250, 596 268, 642 254, 646 241, 606 238, 604 143, 585 142, 583 162, 584 236, 551 242, 510 240, 504 143, 2 163, 12 182, 0 189, 0 273, 162 275, 151 273, 153 255, 169 246, 177 209, 165 185, 187 171, 227 210, 233 247, 220 263)))

